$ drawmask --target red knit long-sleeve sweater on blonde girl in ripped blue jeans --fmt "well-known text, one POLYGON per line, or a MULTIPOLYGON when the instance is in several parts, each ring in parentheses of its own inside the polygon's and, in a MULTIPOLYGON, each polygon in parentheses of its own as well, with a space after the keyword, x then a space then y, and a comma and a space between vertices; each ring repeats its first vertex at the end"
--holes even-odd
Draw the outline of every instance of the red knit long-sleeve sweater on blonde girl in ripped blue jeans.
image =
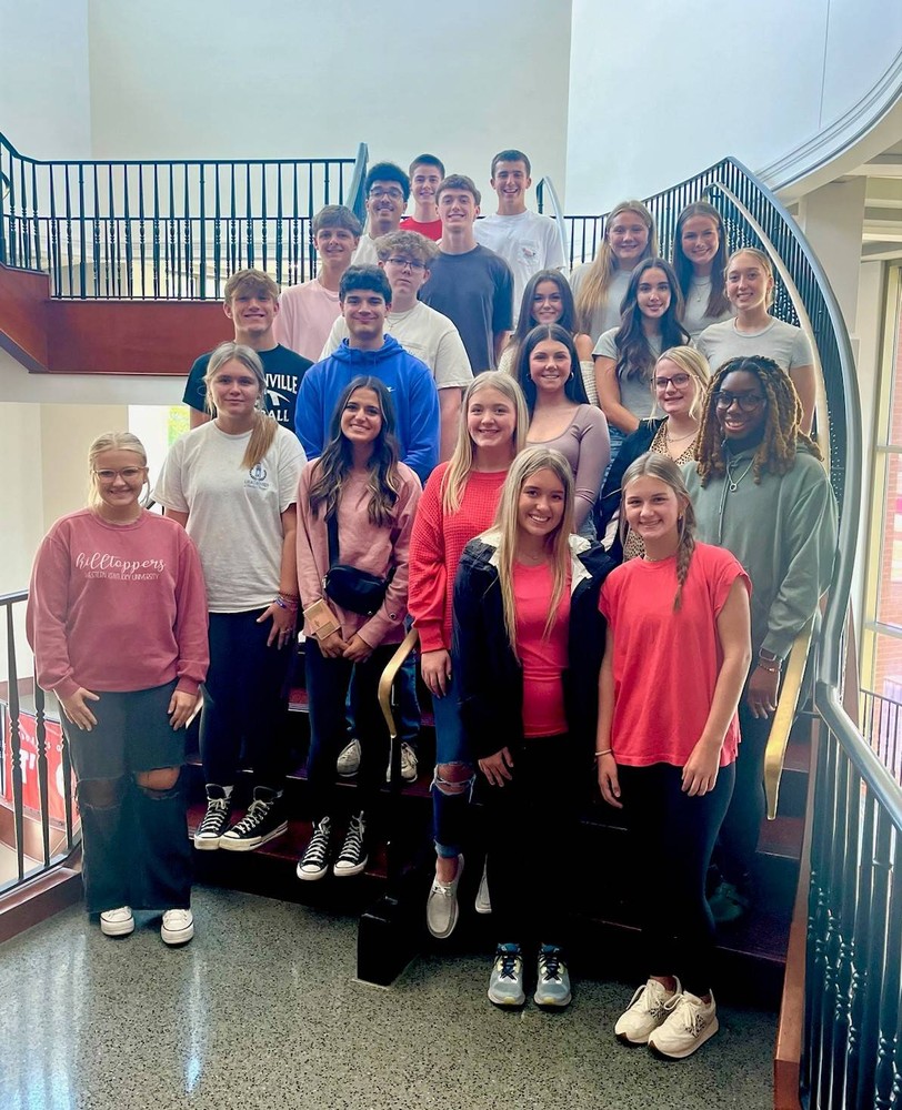
POLYGON ((410 539, 408 609, 423 652, 451 648, 451 603, 458 563, 467 544, 491 527, 508 476, 507 471, 471 471, 460 508, 447 516, 442 508, 447 470, 448 463, 440 463, 430 474, 410 539))

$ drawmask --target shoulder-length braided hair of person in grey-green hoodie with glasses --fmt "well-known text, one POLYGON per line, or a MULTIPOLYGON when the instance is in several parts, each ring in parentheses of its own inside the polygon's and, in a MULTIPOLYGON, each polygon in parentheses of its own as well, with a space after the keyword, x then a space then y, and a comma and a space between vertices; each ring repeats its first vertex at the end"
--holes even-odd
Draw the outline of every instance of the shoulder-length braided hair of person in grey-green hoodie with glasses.
POLYGON ((804 444, 815 458, 823 458, 820 447, 802 431, 802 402, 789 374, 773 359, 748 355, 730 359, 711 377, 701 415, 701 431, 695 441, 695 460, 702 487, 712 477, 726 473, 723 433, 718 420, 714 397, 728 374, 744 371, 754 374, 768 402, 764 435, 752 461, 752 476, 760 485, 761 475, 785 474, 795 465, 799 444, 804 444))

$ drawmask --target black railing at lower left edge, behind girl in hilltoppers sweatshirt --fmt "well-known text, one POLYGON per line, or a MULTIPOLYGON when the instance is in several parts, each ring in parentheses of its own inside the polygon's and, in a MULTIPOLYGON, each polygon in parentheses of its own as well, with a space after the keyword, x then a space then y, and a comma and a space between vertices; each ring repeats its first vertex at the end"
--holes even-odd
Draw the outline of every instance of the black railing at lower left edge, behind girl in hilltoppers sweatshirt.
POLYGON ((0 596, 7 658, 6 680, 0 689, 0 807, 4 810, 0 816, 3 828, 12 834, 3 837, 3 847, 16 856, 16 874, 0 877, 0 892, 61 864, 78 839, 66 737, 59 722, 48 716, 44 692, 33 674, 21 677, 17 616, 24 612, 27 598, 26 591, 0 596))

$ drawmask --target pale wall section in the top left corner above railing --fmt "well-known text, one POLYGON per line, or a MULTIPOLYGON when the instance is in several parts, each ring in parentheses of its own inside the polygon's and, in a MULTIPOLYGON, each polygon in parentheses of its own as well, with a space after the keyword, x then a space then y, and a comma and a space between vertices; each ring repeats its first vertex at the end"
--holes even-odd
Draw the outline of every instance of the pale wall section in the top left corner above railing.
POLYGON ((0 0, 0 132, 21 154, 88 158, 89 0, 0 0))

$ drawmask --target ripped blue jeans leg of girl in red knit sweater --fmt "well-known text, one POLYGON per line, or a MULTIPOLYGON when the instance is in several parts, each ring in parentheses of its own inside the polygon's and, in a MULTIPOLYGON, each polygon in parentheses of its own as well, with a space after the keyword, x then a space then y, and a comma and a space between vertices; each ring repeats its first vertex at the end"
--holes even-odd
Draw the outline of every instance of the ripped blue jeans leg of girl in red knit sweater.
POLYGON ((435 719, 435 775, 432 779, 432 830, 435 851, 453 859, 461 850, 475 767, 463 735, 454 679, 443 697, 432 698, 435 719))

